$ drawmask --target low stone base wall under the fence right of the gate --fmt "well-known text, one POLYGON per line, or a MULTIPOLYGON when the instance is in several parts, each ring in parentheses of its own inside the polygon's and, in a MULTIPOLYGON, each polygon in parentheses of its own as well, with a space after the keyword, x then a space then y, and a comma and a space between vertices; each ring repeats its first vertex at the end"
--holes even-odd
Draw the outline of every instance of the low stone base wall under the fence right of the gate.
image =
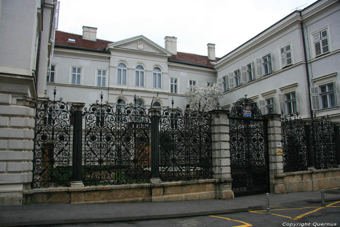
POLYGON ((279 192, 308 192, 321 189, 340 188, 340 168, 326 170, 308 170, 275 175, 276 184, 273 188, 280 188, 279 192))

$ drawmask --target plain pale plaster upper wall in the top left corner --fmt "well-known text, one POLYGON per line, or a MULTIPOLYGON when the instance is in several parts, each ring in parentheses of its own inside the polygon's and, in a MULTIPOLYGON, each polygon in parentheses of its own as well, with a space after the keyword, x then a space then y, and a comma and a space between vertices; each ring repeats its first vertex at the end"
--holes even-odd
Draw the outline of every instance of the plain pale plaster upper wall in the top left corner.
POLYGON ((0 24, 0 66, 34 70, 40 0, 4 0, 0 24))

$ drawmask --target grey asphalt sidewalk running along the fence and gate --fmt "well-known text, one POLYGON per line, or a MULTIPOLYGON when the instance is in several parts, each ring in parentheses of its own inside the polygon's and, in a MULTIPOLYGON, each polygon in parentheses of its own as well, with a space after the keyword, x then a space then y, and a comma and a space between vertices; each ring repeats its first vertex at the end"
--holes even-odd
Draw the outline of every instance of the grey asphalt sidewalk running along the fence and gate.
MULTIPOLYGON (((325 191, 325 201, 340 200, 340 190, 325 191)), ((271 207, 319 203, 321 192, 270 194, 271 207)), ((33 226, 84 222, 129 221, 155 218, 211 215, 265 209, 266 194, 229 200, 180 202, 69 204, 40 203, 0 207, 0 226, 33 226)))

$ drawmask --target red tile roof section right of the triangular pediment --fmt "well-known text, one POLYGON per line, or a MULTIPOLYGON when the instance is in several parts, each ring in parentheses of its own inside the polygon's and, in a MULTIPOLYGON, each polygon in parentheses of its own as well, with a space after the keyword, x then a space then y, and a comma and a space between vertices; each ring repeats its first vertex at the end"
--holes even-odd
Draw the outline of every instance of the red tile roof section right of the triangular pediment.
POLYGON ((184 53, 184 52, 177 52, 177 55, 172 55, 169 58, 169 61, 172 62, 179 62, 179 63, 187 63, 199 66, 207 66, 207 67, 214 67, 210 62, 216 62, 216 60, 210 60, 207 56, 193 54, 193 53, 184 53))

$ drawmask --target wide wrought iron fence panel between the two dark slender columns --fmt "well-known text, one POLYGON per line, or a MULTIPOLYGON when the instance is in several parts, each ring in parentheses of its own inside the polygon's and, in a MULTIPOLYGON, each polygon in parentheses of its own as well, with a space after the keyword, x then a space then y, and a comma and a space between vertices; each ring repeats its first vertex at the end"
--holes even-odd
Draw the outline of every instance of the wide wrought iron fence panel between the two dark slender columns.
MULTIPOLYGON (((85 185, 149 182, 150 118, 130 104, 114 109, 107 102, 85 108, 85 185)), ((119 100, 119 103, 121 101, 119 100)))

